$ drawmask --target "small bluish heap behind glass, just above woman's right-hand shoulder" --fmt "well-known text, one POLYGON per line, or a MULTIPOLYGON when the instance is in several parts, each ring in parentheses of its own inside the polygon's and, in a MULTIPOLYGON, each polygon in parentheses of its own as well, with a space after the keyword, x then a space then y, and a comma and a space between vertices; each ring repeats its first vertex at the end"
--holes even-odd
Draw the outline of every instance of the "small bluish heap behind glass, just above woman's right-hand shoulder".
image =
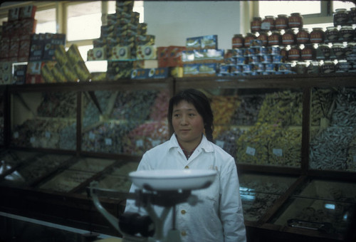
POLYGON ((215 144, 219 145, 226 152, 231 154, 232 157, 236 158, 236 143, 239 137, 242 135, 244 130, 240 130, 238 127, 233 127, 230 130, 221 132, 214 140, 215 144))

